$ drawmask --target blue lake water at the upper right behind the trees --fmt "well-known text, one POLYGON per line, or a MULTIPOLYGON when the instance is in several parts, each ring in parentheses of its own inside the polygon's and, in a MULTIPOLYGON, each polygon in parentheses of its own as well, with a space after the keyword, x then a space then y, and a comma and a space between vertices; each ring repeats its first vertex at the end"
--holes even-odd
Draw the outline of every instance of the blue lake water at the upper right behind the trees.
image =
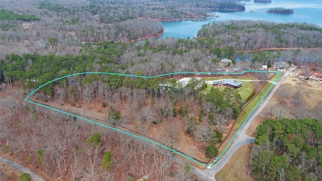
POLYGON ((159 38, 193 38, 197 36, 198 30, 202 28, 202 25, 208 24, 212 21, 225 20, 263 20, 276 23, 305 22, 306 24, 315 24, 322 28, 322 0, 272 0, 272 3, 270 4, 258 4, 254 3, 252 0, 251 2, 241 3, 245 3, 246 10, 244 12, 214 12, 213 14, 218 15, 218 18, 206 18, 204 21, 185 20, 176 22, 162 22, 165 32, 159 38), (293 9, 294 14, 278 15, 266 13, 267 10, 272 8, 293 9))

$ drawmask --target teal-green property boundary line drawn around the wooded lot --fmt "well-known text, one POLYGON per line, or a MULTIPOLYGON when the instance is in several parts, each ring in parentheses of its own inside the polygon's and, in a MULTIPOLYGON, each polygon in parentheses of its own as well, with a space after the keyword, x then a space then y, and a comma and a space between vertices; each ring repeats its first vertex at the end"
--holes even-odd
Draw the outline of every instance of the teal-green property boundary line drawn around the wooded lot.
MULTIPOLYGON (((266 91, 266 93, 264 94, 264 96, 262 97, 262 99, 257 103, 257 105, 255 106, 255 108, 252 110, 252 112, 250 113, 250 115, 246 118, 246 120, 243 122, 243 124, 241 124, 241 126, 239 127, 239 129, 237 130, 237 132, 234 134, 234 136, 231 138, 230 142, 228 143, 228 145, 226 146, 226 148, 223 150, 223 152, 220 154, 219 158, 225 153, 225 151, 228 149, 228 147, 230 146, 232 140, 236 137, 237 133, 239 132, 239 130, 244 126, 244 124, 246 123, 246 121, 250 118, 250 116, 253 114, 253 112, 255 111, 255 109, 258 107, 258 105, 262 102, 262 100, 265 98, 265 96, 269 93, 269 91, 271 90, 272 86, 275 84, 275 82, 278 80, 279 76, 281 75, 282 72, 278 72, 278 71, 256 71, 256 70, 247 70, 247 71, 243 71, 243 72, 233 72, 233 73, 226 73, 226 72, 185 72, 185 71, 180 71, 180 72, 173 72, 173 73, 167 73, 167 74, 162 74, 162 75, 155 75, 155 76, 140 76, 140 75, 130 75, 130 74, 123 74, 123 73, 110 73, 110 72, 82 72, 82 73, 74 73, 74 74, 70 74, 70 75, 65 75, 65 76, 62 76, 62 77, 59 77, 59 78, 56 78, 56 79, 53 79, 53 80, 50 80, 48 81, 47 83, 44 83, 42 84, 41 86, 39 86, 38 88, 36 88, 32 93, 30 93, 26 98, 25 98, 25 101, 26 102, 29 102, 29 103, 32 103, 32 104, 35 104, 35 105, 38 105, 38 106, 42 106, 44 108, 48 108, 48 109, 51 109, 51 110, 54 110, 54 111, 57 111, 59 113, 63 113, 63 114, 66 114, 66 115, 69 115, 69 116, 74 116, 76 118, 79 118, 79 119, 83 119, 85 121, 88 121, 88 122, 91 122, 91 123, 94 123, 94 124, 97 124, 97 125, 100 125, 100 126, 103 126, 103 127, 107 127, 109 129, 112 129, 112 130, 115 130, 115 131, 119 131, 121 133, 124 133, 124 134, 128 134, 130 136, 133 136, 133 137, 136 137, 136 138, 139 138, 139 139, 142 139, 144 141, 148 141, 150 143, 153 143, 153 144, 156 144, 160 147, 163 147, 165 149, 168 149, 170 151, 173 151, 185 158, 188 158, 196 163, 199 163, 203 166, 208 166, 206 164, 203 164, 189 156, 186 156, 180 152, 177 152, 176 150, 173 150, 171 148, 168 148, 162 144, 159 144, 159 143, 156 143, 154 141, 151 141, 149 139, 146 139, 146 138, 143 138, 143 137, 140 137, 140 136, 137 136, 137 135, 134 135, 132 133, 129 133, 129 132, 126 132, 126 131, 122 131, 122 130, 119 130, 119 129, 116 129, 116 128, 113 128, 113 127, 110 127, 110 126, 107 126, 107 125, 104 125, 104 124, 101 124, 101 123, 98 123, 98 122, 95 122, 95 121, 92 121, 92 120, 89 120, 89 119, 86 119, 86 118, 82 118, 82 117, 79 117, 79 116, 76 116, 76 115, 73 115, 73 114, 70 114, 70 113, 67 113, 67 112, 64 112, 64 111, 61 111, 61 110, 57 110, 55 108, 51 108, 51 107, 48 107, 48 106, 45 106, 45 105, 42 105, 42 104, 39 104, 39 103, 36 103, 36 102, 33 102, 33 101, 29 101, 28 98, 33 95, 36 91, 38 91, 38 89, 40 89, 41 87, 47 85, 48 83, 51 83, 53 81, 56 81, 56 80, 59 80, 59 79, 62 79, 62 78, 66 78, 66 77, 69 77, 69 76, 74 76, 74 75, 82 75, 82 74, 112 74, 112 75, 122 75, 122 76, 132 76, 132 77, 141 77, 141 78, 155 78, 155 77, 160 77, 160 76, 166 76, 166 75, 173 75, 173 74, 180 74, 180 73, 184 73, 184 74, 227 74, 227 75, 239 75, 239 74, 244 74, 244 73, 247 73, 247 72, 260 72, 260 73, 279 73, 279 75, 276 77, 275 81, 272 83, 272 85, 268 88, 268 90, 266 91)), ((213 164, 213 163, 212 163, 213 164)), ((211 165, 212 165, 211 164, 211 165)))

